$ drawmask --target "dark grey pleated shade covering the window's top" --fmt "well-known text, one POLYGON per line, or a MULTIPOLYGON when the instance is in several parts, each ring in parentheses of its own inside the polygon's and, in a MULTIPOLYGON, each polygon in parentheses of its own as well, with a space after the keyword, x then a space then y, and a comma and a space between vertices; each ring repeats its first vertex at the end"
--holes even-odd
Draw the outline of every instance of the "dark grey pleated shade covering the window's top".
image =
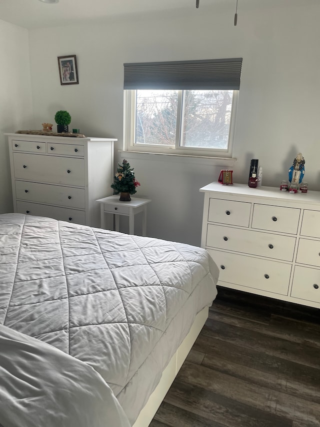
POLYGON ((238 90, 242 58, 123 64, 124 89, 238 90))

